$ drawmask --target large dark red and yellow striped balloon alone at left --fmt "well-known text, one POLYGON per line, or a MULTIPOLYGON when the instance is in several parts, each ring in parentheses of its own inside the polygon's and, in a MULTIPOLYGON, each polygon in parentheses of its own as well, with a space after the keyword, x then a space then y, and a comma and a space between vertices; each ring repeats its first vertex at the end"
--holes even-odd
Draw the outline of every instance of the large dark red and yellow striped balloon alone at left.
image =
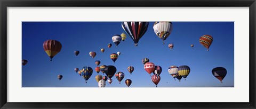
POLYGON ((52 61, 52 58, 57 55, 58 52, 60 52, 62 45, 57 40, 46 40, 43 43, 43 48, 47 55, 51 58, 50 61, 52 61))

